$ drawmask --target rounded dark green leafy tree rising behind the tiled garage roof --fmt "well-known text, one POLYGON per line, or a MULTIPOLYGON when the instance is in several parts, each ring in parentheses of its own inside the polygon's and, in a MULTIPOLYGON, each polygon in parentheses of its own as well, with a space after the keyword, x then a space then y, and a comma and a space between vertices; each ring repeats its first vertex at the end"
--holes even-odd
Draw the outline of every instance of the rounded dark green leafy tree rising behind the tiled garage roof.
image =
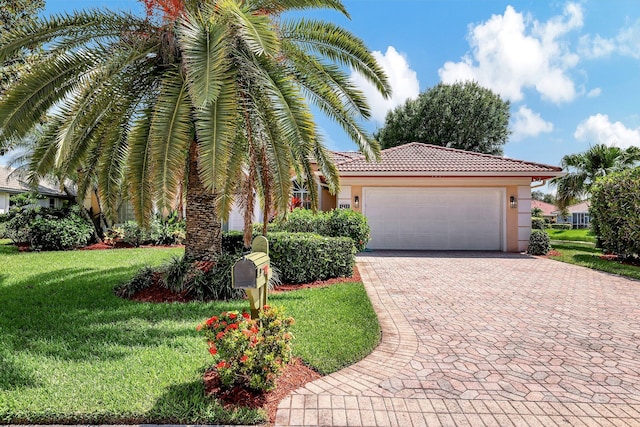
POLYGON ((382 148, 423 142, 502 155, 509 116, 509 102, 475 82, 440 83, 390 111, 374 137, 382 148))

